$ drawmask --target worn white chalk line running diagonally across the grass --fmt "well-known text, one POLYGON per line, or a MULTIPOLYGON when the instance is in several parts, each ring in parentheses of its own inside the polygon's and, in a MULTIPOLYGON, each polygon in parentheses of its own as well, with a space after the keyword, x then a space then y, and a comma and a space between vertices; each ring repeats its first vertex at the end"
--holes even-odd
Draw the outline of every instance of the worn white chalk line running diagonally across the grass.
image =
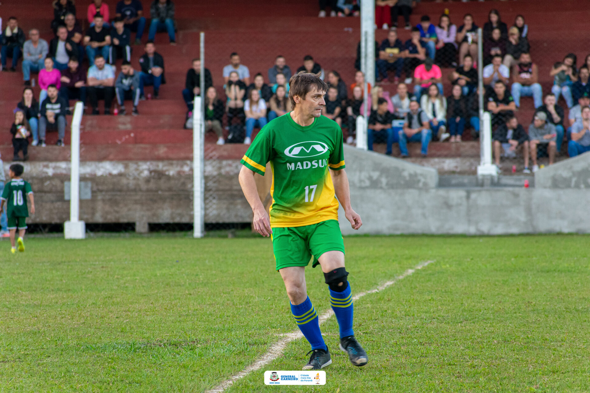
MULTIPOLYGON (((432 262, 434 262, 434 260, 427 260, 425 262, 418 263, 418 265, 416 265, 413 269, 406 270, 401 275, 395 277, 392 280, 389 280, 386 283, 383 283, 382 285, 379 285, 377 288, 367 290, 366 292, 357 293, 355 296, 352 296, 352 299, 358 300, 365 295, 369 295, 369 293, 379 292, 380 290, 388 288, 389 286, 394 285, 399 280, 404 279, 407 276, 411 275, 416 270, 422 269, 422 267, 430 265, 432 262)), ((326 322, 327 319, 329 319, 330 316, 332 316, 332 315, 334 315, 334 311, 331 308, 328 309, 327 311, 325 311, 322 315, 320 315, 320 318, 319 318, 320 325, 322 325, 322 323, 326 322)), ((279 356, 283 355, 283 351, 287 347, 287 344, 289 344, 291 341, 302 338, 303 334, 301 334, 301 332, 299 330, 297 330, 297 331, 293 331, 291 333, 283 334, 281 336, 283 338, 281 338, 279 341, 277 341, 275 344, 273 344, 270 347, 270 349, 268 349, 268 352, 266 352, 266 354, 264 354, 260 358, 258 358, 257 361, 255 361, 253 364, 247 366, 242 371, 238 372, 238 374, 232 375, 232 377, 221 382, 221 384, 217 385, 217 387, 205 391, 205 393, 222 393, 222 392, 224 392, 225 389, 227 389, 231 385, 233 385, 234 382, 237 381, 238 379, 244 378, 246 375, 250 374, 251 372, 257 371, 257 370, 263 368, 263 366, 267 365, 268 363, 272 362, 274 359, 277 359, 279 356)))

